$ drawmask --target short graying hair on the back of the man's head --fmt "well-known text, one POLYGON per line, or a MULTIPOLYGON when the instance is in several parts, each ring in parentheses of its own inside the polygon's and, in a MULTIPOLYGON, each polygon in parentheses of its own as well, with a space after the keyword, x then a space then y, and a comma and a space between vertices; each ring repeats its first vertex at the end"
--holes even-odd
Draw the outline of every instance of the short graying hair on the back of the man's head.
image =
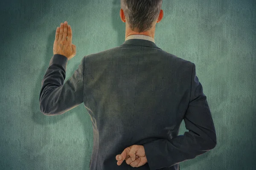
POLYGON ((145 32, 156 22, 163 0, 121 0, 121 8, 132 31, 145 32))

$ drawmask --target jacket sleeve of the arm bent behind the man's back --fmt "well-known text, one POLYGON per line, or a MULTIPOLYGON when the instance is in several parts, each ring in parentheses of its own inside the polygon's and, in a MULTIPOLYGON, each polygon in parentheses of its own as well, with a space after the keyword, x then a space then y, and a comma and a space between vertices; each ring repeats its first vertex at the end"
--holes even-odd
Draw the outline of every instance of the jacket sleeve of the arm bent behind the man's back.
POLYGON ((157 139, 143 144, 151 170, 170 167, 188 159, 193 159, 213 149, 216 132, 207 98, 192 63, 191 94, 189 105, 183 118, 186 129, 184 135, 172 139, 157 139))

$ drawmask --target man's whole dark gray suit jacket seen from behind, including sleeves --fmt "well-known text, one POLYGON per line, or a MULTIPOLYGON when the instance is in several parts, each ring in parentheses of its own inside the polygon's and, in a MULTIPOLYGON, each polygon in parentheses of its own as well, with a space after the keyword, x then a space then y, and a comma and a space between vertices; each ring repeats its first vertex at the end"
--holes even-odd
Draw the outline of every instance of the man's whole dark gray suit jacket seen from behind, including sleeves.
POLYGON ((93 125, 90 170, 178 170, 216 146, 216 133, 195 64, 148 40, 81 60, 64 83, 67 58, 55 54, 42 81, 40 109, 59 115, 84 103, 93 125), (186 131, 177 136, 184 120, 186 131), (143 145, 148 162, 118 166, 116 155, 143 145))

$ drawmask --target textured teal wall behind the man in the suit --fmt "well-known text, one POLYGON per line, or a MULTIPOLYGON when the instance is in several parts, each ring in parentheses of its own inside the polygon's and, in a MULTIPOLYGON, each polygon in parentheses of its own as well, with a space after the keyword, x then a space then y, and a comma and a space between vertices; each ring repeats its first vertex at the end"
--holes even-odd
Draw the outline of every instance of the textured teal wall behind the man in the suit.
MULTIPOLYGON (((65 20, 77 50, 68 61, 66 80, 85 55, 125 41, 120 1, 1 0, 0 4, 0 169, 89 170, 93 147, 89 114, 81 104, 59 116, 43 115, 41 81, 53 56, 55 30, 65 20)), ((156 45, 195 63, 217 134, 213 150, 181 162, 180 169, 254 170, 256 1, 163 0, 162 9, 156 45)), ((179 135, 185 131, 182 122, 179 135)))

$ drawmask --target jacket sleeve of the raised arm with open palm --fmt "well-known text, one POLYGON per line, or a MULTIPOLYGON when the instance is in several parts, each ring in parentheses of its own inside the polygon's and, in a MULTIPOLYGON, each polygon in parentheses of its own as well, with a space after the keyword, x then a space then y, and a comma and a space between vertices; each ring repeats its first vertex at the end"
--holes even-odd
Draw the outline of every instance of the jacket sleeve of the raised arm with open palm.
POLYGON ((64 83, 68 59, 60 54, 52 57, 40 91, 40 110, 44 115, 60 115, 83 102, 84 58, 72 77, 64 83))

